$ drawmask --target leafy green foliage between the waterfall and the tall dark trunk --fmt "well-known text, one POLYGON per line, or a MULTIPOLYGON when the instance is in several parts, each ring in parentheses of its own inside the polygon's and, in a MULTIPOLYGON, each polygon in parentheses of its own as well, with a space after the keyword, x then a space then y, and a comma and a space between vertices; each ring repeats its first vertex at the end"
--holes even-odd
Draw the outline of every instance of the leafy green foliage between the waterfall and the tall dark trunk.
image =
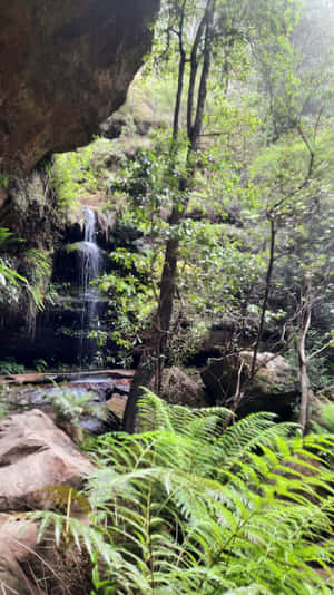
POLYGON ((128 205, 119 220, 119 230, 130 226, 144 234, 144 246, 117 248, 111 253, 114 271, 105 275, 100 290, 108 295, 112 322, 111 338, 120 348, 140 341, 157 304, 157 280, 161 267, 166 223, 163 211, 170 207, 173 189, 166 175, 166 146, 137 150, 135 159, 124 159, 121 178, 112 192, 128 195, 128 205))

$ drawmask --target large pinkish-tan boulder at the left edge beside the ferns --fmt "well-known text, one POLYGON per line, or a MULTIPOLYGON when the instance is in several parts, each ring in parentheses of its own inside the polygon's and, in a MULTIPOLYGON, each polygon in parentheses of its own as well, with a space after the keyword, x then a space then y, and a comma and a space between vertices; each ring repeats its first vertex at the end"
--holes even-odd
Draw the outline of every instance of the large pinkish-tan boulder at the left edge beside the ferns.
POLYGON ((46 488, 79 488, 90 472, 90 462, 42 411, 33 409, 0 421, 1 511, 48 508, 46 488))

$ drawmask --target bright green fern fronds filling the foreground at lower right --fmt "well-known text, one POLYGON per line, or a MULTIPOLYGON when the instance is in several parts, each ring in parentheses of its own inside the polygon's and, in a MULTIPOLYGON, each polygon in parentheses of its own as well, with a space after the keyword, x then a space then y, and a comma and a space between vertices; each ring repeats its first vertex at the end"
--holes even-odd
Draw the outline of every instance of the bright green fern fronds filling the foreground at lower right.
POLYGON ((321 593, 333 588, 333 436, 257 413, 140 403, 144 432, 106 435, 88 479, 91 525, 39 513, 95 560, 98 594, 321 593), (104 564, 99 565, 98 560, 104 564), (317 569, 322 568, 323 578, 317 569))

